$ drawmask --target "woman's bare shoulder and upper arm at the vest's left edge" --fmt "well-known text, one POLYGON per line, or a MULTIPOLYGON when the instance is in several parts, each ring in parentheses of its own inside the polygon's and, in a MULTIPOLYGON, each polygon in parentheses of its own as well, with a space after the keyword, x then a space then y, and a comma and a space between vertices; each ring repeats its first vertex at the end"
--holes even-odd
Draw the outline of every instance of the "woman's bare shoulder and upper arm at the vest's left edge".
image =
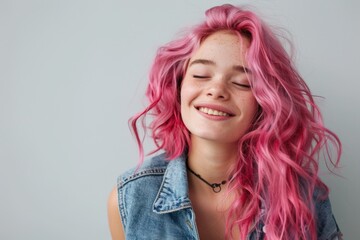
POLYGON ((114 187, 108 199, 108 222, 112 240, 125 239, 124 229, 120 219, 118 207, 118 193, 117 188, 114 187))

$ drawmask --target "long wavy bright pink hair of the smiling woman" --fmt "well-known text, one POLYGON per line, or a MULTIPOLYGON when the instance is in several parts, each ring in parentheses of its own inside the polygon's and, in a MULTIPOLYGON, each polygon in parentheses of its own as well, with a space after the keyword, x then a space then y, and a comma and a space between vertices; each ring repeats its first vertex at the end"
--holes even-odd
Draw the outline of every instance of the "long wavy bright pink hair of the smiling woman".
POLYGON ((229 211, 226 236, 231 238, 238 227, 241 238, 246 239, 263 208, 267 239, 316 239, 314 196, 316 192, 322 198, 328 195, 318 177, 319 155, 324 153, 325 160, 337 167, 341 143, 324 126, 308 86, 276 35, 251 11, 228 4, 213 7, 206 11, 205 22, 188 35, 159 48, 146 91, 150 104, 130 119, 140 162, 144 150, 137 122, 147 114, 153 116, 149 126, 157 146, 153 152, 162 149, 168 159, 174 159, 188 150, 189 132, 180 114, 180 84, 192 53, 207 36, 220 30, 250 39, 246 57, 259 104, 251 129, 239 140, 230 189, 237 197, 229 211), (330 150, 335 151, 335 159, 330 150))

